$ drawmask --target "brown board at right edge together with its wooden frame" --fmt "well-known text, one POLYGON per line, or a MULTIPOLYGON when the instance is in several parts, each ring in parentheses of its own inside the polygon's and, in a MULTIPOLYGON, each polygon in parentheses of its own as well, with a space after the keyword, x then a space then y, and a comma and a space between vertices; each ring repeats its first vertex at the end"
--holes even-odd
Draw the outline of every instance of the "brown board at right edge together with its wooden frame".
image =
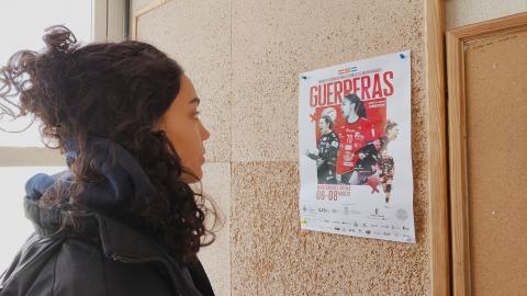
POLYGON ((448 32, 453 295, 527 295, 527 13, 448 32))

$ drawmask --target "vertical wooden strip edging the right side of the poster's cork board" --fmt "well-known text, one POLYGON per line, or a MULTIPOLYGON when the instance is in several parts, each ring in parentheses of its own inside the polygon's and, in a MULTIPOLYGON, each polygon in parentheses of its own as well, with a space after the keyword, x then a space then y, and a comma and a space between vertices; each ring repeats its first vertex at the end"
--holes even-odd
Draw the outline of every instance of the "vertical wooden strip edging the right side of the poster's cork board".
POLYGON ((447 132, 445 112, 445 1, 425 1, 425 80, 431 295, 450 295, 447 132))

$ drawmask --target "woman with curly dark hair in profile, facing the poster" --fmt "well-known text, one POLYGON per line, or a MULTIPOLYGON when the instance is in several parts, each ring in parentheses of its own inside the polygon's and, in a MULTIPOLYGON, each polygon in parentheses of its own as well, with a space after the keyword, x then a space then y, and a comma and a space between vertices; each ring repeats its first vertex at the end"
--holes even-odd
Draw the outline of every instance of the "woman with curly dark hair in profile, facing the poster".
POLYGON ((213 295, 197 253, 216 214, 189 185, 210 136, 192 82, 145 43, 78 46, 64 26, 44 42, 0 70, 0 106, 37 116, 68 170, 27 181, 35 234, 0 295, 213 295))

